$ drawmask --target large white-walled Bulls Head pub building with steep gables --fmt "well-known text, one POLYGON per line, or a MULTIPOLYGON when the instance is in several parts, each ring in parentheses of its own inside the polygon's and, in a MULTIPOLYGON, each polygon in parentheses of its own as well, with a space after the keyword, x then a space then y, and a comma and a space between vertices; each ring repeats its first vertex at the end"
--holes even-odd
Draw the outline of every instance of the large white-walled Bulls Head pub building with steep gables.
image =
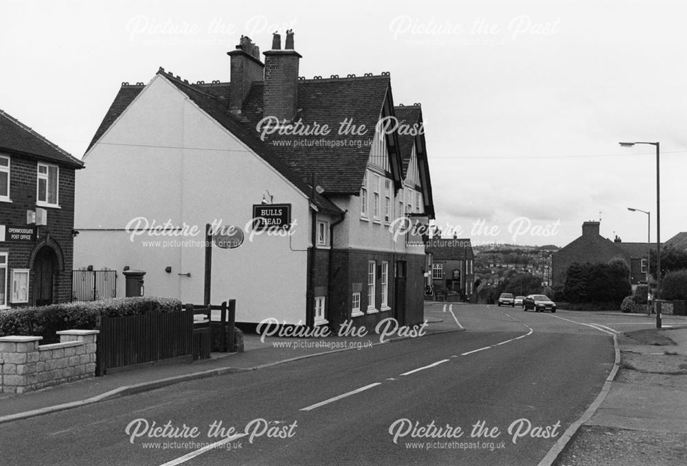
POLYGON ((228 55, 230 82, 122 84, 85 154, 76 264, 141 269, 146 294, 200 303, 190 229, 231 225, 245 240, 213 246, 211 301, 235 298, 238 322, 421 322, 425 248, 392 224, 433 218, 425 136, 376 126, 421 125, 420 105, 394 105, 388 73, 299 77, 292 34, 264 62, 245 36, 228 55))

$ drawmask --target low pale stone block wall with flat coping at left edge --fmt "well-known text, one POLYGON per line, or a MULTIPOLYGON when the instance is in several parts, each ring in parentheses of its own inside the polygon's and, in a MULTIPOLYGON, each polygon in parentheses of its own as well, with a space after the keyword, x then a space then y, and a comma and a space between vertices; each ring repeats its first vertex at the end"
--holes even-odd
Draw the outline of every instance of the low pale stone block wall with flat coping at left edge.
POLYGON ((0 337, 0 393, 24 393, 95 375, 97 330, 58 331, 60 342, 41 336, 0 337))

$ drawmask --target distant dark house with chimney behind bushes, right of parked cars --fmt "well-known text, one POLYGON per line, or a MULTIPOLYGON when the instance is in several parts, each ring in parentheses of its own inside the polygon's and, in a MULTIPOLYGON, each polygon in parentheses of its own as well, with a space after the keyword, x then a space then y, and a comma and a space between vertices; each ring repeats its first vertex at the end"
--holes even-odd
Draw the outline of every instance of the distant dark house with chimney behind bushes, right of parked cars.
MULTIPOLYGON (((646 280, 647 256, 649 245, 646 243, 624 243, 599 234, 599 222, 584 222, 582 236, 559 249, 552 255, 552 283, 554 286, 565 283, 567 268, 574 262, 605 263, 620 259, 629 268, 629 281, 637 286, 646 280)), ((652 245, 655 248, 655 245, 652 245)))

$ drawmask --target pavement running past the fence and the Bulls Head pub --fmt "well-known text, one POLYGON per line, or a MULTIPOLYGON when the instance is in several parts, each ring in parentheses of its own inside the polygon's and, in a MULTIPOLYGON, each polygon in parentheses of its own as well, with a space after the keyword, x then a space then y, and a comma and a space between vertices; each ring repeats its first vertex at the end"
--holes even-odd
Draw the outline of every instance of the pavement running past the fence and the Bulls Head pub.
MULTIPOLYGON (((450 314, 427 312, 427 335, 460 331, 462 327, 450 314)), ((387 334, 393 329, 390 328, 387 334)), ((355 351, 373 345, 390 344, 409 336, 396 331, 381 341, 381 336, 329 336, 327 338, 278 338, 245 334, 243 353, 211 353, 211 358, 187 363, 159 363, 93 377, 78 382, 43 388, 21 394, 0 393, 0 423, 26 419, 49 412, 76 408, 126 395, 155 390, 163 386, 228 373, 254 371, 276 364, 313 358, 338 351, 355 351)))

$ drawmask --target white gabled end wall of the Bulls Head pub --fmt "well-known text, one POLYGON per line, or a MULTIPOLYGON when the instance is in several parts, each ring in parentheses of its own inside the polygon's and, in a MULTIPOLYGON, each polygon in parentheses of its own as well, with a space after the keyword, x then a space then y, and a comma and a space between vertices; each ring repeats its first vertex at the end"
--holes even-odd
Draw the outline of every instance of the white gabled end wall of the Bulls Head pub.
POLYGON ((214 247, 212 302, 236 299, 237 321, 305 321, 308 200, 165 78, 157 75, 146 86, 85 161, 76 183, 75 268, 117 270, 118 296, 124 296, 124 266, 146 270, 146 295, 201 303, 205 223, 244 229, 251 205, 260 204, 267 189, 273 202, 291 203, 293 235, 247 236, 238 248, 214 247), (138 217, 196 226, 200 233, 145 233, 131 241, 122 229, 138 217), (186 273, 190 277, 177 275, 186 273))

